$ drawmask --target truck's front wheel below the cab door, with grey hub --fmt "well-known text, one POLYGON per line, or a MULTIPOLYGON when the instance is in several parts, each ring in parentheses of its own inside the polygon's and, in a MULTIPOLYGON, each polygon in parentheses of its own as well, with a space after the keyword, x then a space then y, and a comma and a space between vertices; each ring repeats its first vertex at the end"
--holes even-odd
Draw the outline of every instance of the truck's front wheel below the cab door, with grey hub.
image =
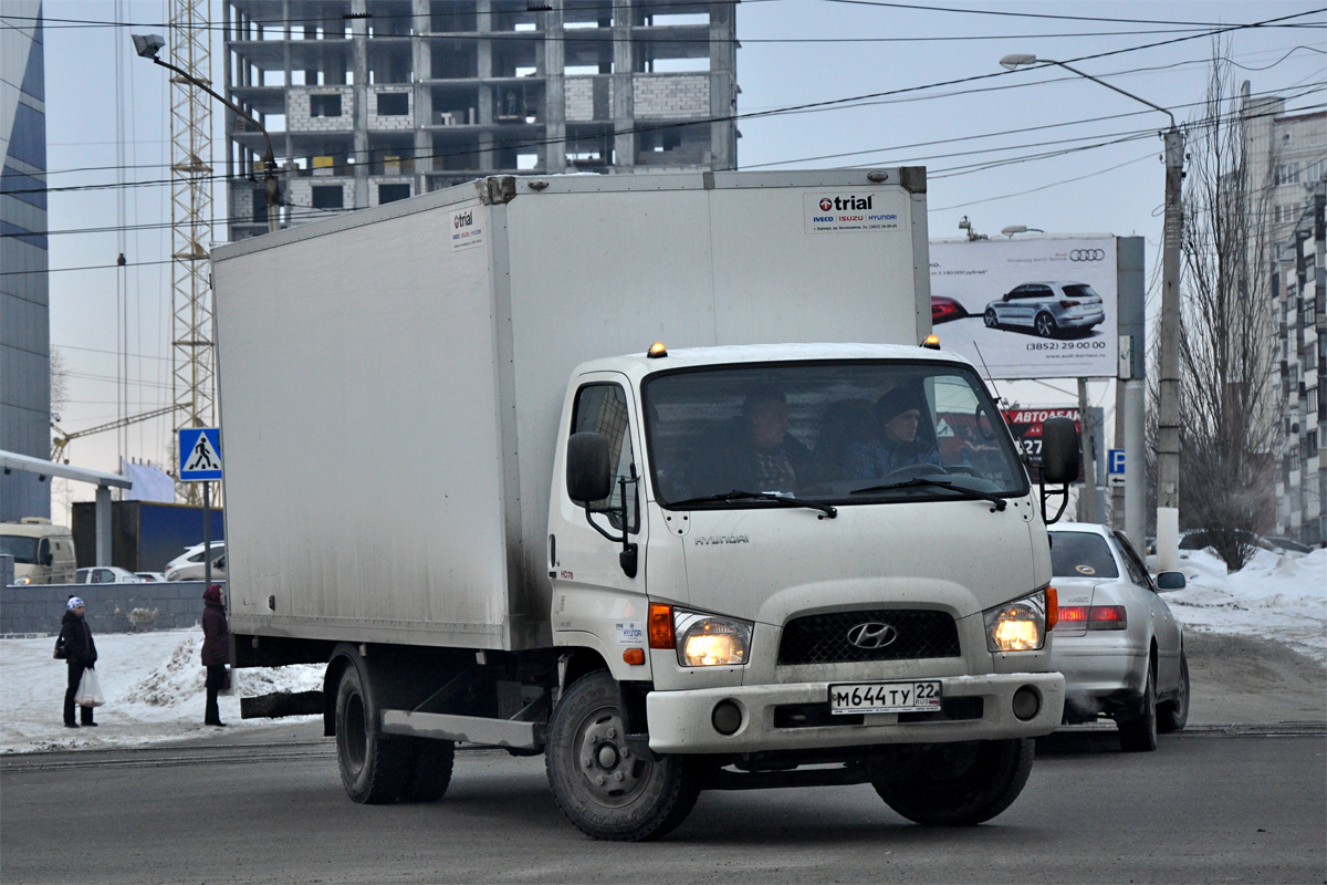
POLYGON ((658 839, 691 812, 699 782, 681 756, 652 762, 630 751, 618 703, 617 683, 602 670, 567 690, 548 728, 548 783, 563 815, 583 833, 658 839))

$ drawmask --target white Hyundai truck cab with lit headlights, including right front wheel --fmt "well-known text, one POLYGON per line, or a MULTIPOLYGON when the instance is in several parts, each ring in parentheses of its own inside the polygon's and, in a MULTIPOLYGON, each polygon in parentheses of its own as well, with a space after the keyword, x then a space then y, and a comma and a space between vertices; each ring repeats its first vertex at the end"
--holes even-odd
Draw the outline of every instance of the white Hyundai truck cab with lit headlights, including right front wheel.
MULTIPOLYGON (((637 754, 766 775, 836 760, 925 823, 1013 800, 1064 682, 1047 671, 1043 517, 971 365, 897 345, 660 346, 583 365, 561 437, 553 641, 606 662, 637 754), (943 744, 1001 748, 1003 792, 937 811, 900 787, 901 752, 943 744)), ((572 734, 567 752, 594 763, 568 763, 564 811, 633 743, 572 734)))

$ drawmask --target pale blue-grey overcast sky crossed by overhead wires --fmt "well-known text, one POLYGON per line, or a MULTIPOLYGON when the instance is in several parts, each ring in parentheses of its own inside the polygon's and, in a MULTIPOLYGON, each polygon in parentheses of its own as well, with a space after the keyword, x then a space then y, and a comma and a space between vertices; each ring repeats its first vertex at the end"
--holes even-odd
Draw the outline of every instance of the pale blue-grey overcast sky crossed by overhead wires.
MULTIPOLYGON (((1166 117, 1063 69, 1010 73, 999 58, 1035 53, 1074 64, 1185 122, 1201 115, 1220 40, 1254 94, 1322 109, 1324 7, 744 0, 739 165, 925 165, 932 238, 958 236, 963 216, 991 236, 1007 224, 1140 235, 1151 277, 1164 187, 1156 133, 1166 117), (1273 24, 1234 28, 1254 23, 1273 24), (1222 28, 1234 29, 1212 36, 1222 28)), ((167 74, 134 56, 129 40, 131 31, 165 33, 166 19, 166 0, 45 1, 50 340, 68 370, 66 431, 171 402, 170 188, 77 190, 169 180, 167 74), (126 267, 117 272, 121 252, 126 267)), ((212 19, 219 31, 219 3, 212 19)), ((219 40, 212 57, 220 90, 219 40)), ((222 114, 214 118, 214 165, 223 171, 222 114)), ((218 188, 218 236, 223 206, 218 188)), ((1023 399, 1043 395, 1043 405, 1058 397, 1042 387, 1023 399)), ((1095 398, 1107 398, 1105 385, 1095 398)), ((115 470, 119 455, 165 464, 170 435, 169 421, 142 422, 77 439, 66 456, 96 470, 115 470)), ((52 502, 57 519, 64 498, 52 502)))

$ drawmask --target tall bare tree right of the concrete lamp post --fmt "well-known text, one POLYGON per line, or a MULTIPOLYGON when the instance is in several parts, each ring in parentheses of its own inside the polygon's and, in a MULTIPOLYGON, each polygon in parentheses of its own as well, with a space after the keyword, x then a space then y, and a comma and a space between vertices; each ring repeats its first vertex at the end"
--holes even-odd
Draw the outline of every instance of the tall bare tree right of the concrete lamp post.
POLYGON ((1181 238, 1181 520, 1208 529, 1230 571, 1275 517, 1282 393, 1273 300, 1271 174, 1250 155, 1247 109, 1214 53, 1202 117, 1189 126, 1181 238))

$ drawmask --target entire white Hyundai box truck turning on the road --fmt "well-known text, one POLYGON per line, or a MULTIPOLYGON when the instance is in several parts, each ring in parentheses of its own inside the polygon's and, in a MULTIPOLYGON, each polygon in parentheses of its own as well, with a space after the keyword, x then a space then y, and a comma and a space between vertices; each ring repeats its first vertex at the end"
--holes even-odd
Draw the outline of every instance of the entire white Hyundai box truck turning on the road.
POLYGON ((1063 709, 1046 491, 918 346, 926 259, 922 169, 498 176, 219 247, 235 665, 326 665, 361 803, 467 742, 600 839, 707 788, 998 815, 1063 709))

